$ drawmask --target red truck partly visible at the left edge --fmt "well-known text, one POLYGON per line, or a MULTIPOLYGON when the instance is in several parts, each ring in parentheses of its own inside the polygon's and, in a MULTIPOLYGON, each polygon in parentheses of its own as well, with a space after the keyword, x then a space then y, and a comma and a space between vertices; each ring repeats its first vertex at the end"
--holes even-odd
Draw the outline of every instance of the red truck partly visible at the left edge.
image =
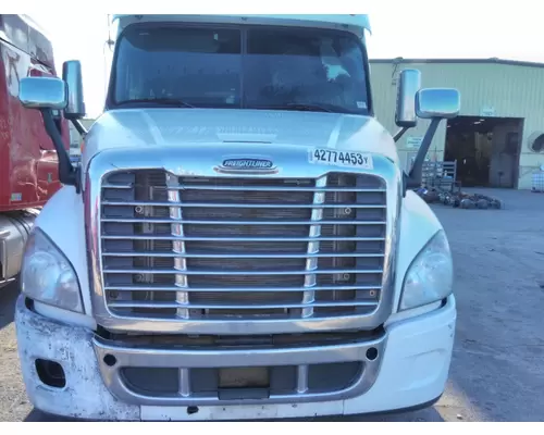
MULTIPOLYGON (((28 15, 0 14, 0 288, 16 278, 34 220, 61 187, 41 114, 18 101, 27 76, 57 76, 51 40, 28 15)), ((67 148, 60 112, 55 124, 67 148)))

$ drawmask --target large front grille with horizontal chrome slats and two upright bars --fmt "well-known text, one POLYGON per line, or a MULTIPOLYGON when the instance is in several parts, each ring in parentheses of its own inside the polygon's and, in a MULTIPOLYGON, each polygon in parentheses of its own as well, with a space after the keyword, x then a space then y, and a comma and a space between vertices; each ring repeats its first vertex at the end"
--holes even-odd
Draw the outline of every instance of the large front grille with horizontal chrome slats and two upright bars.
POLYGON ((106 303, 118 318, 368 315, 381 297, 386 185, 111 173, 101 186, 106 303))

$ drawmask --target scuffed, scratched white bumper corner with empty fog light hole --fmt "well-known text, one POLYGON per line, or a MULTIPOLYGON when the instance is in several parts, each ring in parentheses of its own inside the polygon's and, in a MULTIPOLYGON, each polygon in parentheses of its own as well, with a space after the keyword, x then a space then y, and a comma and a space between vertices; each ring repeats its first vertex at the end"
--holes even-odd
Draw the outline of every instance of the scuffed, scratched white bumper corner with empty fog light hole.
POLYGON ((139 420, 138 406, 120 402, 106 388, 92 348, 92 332, 62 325, 33 313, 20 297, 15 309, 17 350, 30 402, 39 410, 89 420, 139 420), (64 388, 48 387, 38 377, 36 358, 59 362, 64 388))

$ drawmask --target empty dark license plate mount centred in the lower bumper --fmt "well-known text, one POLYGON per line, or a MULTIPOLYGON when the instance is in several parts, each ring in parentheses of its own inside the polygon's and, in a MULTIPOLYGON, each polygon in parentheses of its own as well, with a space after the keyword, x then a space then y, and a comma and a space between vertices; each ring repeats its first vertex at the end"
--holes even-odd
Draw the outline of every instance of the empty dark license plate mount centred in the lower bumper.
POLYGON ((267 366, 223 368, 218 372, 220 400, 255 400, 270 397, 270 369, 267 366))

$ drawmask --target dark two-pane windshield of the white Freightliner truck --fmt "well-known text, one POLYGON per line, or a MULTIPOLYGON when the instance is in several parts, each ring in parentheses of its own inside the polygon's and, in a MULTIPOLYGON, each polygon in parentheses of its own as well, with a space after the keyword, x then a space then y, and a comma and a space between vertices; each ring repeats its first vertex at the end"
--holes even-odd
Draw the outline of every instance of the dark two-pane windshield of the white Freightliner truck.
POLYGON ((369 113, 364 48, 347 32, 146 26, 116 50, 109 108, 369 113))

